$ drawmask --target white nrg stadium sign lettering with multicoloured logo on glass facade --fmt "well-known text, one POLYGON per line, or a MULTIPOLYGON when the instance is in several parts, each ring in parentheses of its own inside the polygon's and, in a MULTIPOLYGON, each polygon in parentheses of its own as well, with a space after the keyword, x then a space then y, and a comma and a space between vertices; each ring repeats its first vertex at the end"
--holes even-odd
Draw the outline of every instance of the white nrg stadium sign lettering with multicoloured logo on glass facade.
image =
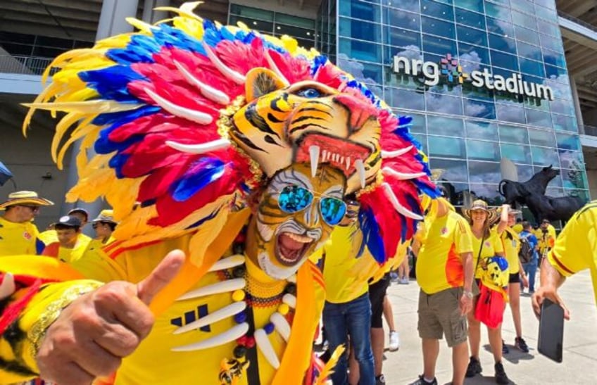
POLYGON ((509 77, 493 75, 487 68, 482 71, 471 71, 470 74, 463 72, 462 66, 449 53, 446 57, 441 58, 439 64, 396 55, 394 56, 394 72, 415 77, 422 75, 425 78, 423 82, 429 87, 439 84, 441 78, 444 78, 448 84, 466 82, 472 87, 553 100, 553 90, 550 87, 522 80, 522 75, 517 72, 513 72, 509 77))

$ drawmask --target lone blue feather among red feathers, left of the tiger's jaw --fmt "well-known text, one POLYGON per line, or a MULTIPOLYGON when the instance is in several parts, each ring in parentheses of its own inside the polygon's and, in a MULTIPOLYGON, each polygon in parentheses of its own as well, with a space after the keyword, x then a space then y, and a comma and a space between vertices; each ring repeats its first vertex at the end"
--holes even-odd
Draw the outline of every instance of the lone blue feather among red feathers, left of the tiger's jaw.
POLYGON ((203 158, 181 179, 172 184, 170 191, 175 201, 184 202, 211 182, 218 180, 225 172, 226 164, 217 158, 203 158))

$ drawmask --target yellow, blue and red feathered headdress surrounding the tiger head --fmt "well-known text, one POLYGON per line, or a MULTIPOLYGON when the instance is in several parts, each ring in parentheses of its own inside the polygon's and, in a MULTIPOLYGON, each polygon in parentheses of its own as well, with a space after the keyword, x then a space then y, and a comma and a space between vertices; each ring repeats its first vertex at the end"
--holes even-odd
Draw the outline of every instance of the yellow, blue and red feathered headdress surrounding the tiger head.
POLYGON ((115 236, 122 247, 197 232, 191 259, 200 263, 230 213, 276 171, 228 132, 230 117, 246 104, 251 70, 268 68, 284 86, 320 82, 365 101, 377 115, 375 168, 355 162, 353 179, 364 187, 357 196, 365 243, 380 262, 394 255, 421 219, 420 192, 436 196, 425 155, 409 134, 410 118, 392 114, 314 49, 203 20, 193 13, 196 5, 168 8, 176 13, 172 25, 127 19, 139 32, 63 53, 44 73, 45 82, 59 68, 28 105, 23 130, 38 108, 66 113, 51 151, 62 168, 65 151, 80 141, 80 179, 68 201, 105 197, 120 222, 115 236))

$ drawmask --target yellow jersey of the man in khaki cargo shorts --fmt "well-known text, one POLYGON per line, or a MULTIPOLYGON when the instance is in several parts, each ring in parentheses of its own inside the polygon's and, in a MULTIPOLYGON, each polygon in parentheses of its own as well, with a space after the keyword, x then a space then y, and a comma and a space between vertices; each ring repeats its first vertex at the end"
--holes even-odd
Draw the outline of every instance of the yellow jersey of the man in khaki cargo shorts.
POLYGON ((464 284, 461 253, 472 252, 470 226, 466 220, 448 213, 425 224, 427 237, 422 239, 417 255, 417 282, 427 294, 464 284))

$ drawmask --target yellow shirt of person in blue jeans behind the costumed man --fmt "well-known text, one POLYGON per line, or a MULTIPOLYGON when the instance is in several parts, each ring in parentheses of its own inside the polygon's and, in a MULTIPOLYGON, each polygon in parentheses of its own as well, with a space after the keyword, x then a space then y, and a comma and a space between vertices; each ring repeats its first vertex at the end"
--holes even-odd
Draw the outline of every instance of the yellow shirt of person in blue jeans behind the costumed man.
POLYGON ((331 303, 346 303, 367 293, 366 280, 359 279, 351 270, 361 258, 372 258, 365 248, 357 258, 363 233, 357 226, 337 226, 322 248, 311 255, 319 259, 318 265, 325 282, 325 300, 331 303))

